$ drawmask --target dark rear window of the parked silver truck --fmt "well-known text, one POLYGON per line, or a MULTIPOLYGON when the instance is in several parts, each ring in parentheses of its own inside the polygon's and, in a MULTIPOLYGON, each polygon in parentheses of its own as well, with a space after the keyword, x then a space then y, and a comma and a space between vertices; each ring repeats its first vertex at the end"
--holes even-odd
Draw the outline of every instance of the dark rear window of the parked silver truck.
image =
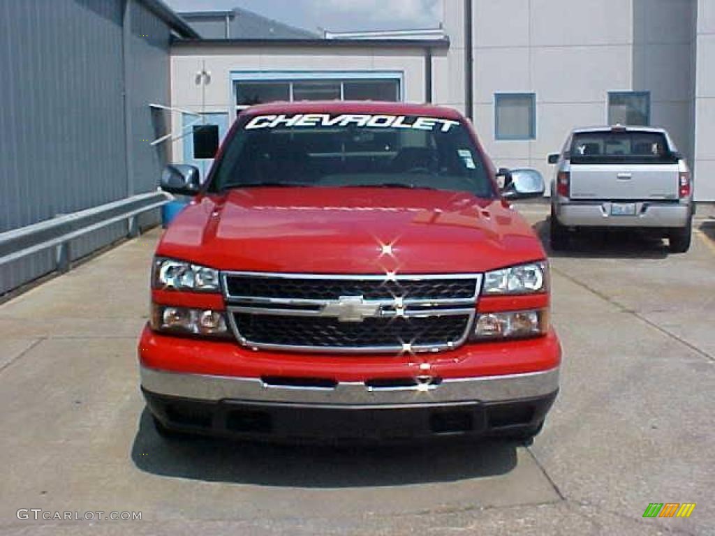
POLYGON ((572 164, 663 164, 677 162, 661 132, 594 131, 573 134, 572 164))

